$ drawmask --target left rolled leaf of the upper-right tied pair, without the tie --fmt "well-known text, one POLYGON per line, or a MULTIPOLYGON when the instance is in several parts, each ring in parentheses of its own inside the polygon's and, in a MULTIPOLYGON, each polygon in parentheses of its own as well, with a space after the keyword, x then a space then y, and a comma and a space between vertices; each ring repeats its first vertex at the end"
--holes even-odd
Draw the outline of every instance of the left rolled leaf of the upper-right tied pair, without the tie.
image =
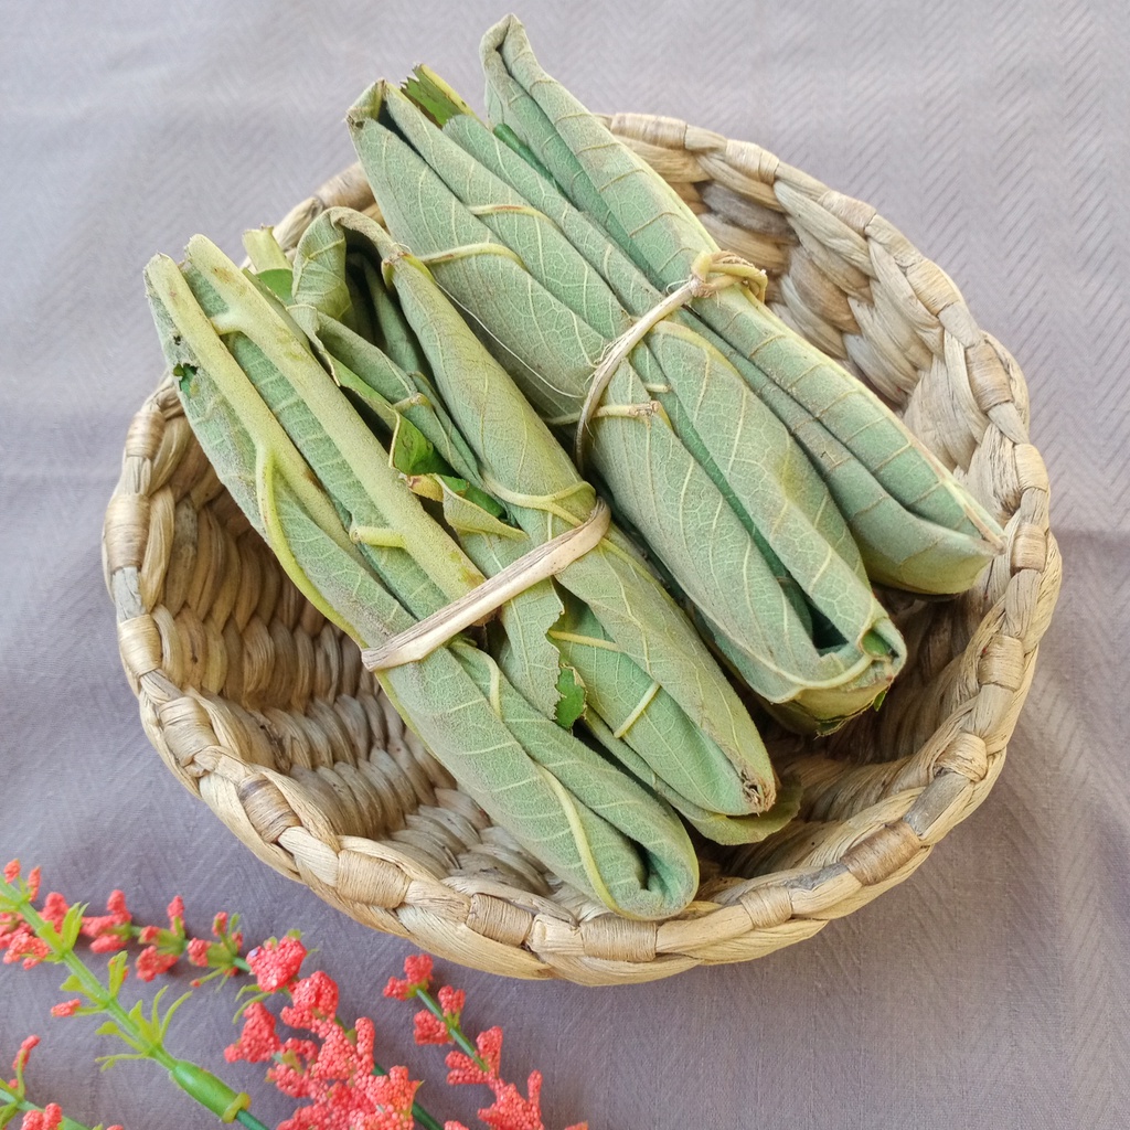
MULTIPOLYGON (((541 418, 575 426, 602 354, 635 320, 619 295, 399 92, 377 84, 350 123, 393 235, 541 418)), ((779 713, 832 729, 881 696, 902 640, 827 487, 718 348, 659 325, 612 375, 589 450, 617 513, 779 713)))

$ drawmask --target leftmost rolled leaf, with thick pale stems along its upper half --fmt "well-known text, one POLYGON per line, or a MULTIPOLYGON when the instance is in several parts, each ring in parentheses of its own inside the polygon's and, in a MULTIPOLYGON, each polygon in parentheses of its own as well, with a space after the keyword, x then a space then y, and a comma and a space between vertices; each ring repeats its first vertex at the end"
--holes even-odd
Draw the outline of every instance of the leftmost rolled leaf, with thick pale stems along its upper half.
MULTIPOLYGON (((146 281, 201 445, 330 620, 379 644, 481 579, 294 323, 211 244, 194 238, 183 271, 157 257, 146 281)), ((635 918, 693 896, 697 861, 671 809, 534 710, 469 641, 379 678, 460 785, 557 875, 635 918)))

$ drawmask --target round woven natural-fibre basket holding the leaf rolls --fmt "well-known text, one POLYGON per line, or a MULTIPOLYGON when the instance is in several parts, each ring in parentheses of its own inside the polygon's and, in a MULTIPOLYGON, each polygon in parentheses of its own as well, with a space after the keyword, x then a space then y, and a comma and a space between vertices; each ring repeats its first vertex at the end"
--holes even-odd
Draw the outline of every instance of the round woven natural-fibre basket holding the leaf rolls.
MULTIPOLYGON (((264 862, 377 930, 464 965, 585 984, 760 957, 910 876, 1005 762, 1060 558, 1048 476, 1012 358, 946 275, 875 209, 755 145, 671 119, 609 124, 764 267, 767 299, 898 411, 999 514, 1007 544, 976 588, 888 594, 910 658, 883 710, 780 767, 798 820, 703 858, 696 901, 637 922, 563 885, 407 731, 351 641, 290 585, 220 486, 163 384, 134 417, 104 534, 122 660, 168 767, 264 862)), ((276 228, 372 208, 358 168, 276 228)))

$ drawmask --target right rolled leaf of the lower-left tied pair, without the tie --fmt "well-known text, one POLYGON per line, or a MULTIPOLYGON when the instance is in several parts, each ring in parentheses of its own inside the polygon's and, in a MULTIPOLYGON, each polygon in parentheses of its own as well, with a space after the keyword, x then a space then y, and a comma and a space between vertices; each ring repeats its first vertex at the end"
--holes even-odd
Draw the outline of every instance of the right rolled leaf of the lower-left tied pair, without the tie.
MULTIPOLYGON (((464 473, 480 497, 493 492, 518 527, 466 501, 466 513, 449 512, 445 493, 449 524, 459 527, 472 558, 485 572, 497 572, 581 522, 594 504, 593 488, 431 273, 379 225, 348 209, 319 217, 296 253, 295 301, 305 297, 307 250, 330 242, 331 231, 355 254, 368 247, 377 261, 384 257, 381 272, 428 364, 437 398, 429 408, 442 412, 443 427, 462 429, 454 438, 473 449, 475 461, 464 473)), ((353 353, 356 362, 365 360, 360 345, 353 353)), ((508 602, 502 621, 506 644, 494 653, 531 703, 553 713, 563 671, 574 672, 588 697, 585 719, 596 715, 649 774, 664 781, 676 808, 714 814, 720 825, 745 817, 727 833, 731 842, 765 834, 764 825, 748 818, 774 800, 773 771, 757 730, 685 615, 621 534, 610 531, 555 585, 538 585, 508 602)), ((779 808, 773 819, 781 817, 779 808)))

